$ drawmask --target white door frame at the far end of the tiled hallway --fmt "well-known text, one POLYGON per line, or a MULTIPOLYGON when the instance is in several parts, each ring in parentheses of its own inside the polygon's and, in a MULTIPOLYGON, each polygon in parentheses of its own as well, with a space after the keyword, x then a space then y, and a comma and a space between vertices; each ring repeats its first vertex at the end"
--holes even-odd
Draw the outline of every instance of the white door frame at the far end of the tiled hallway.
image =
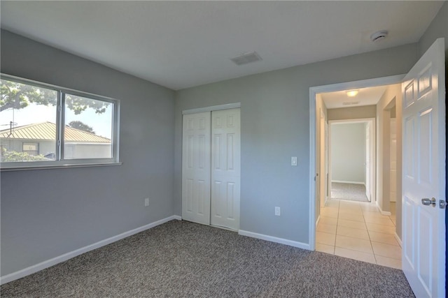
MULTIPOLYGON (((376 186, 377 181, 375 179, 375 170, 377 168, 377 154, 374 154, 377 148, 376 144, 376 119, 375 118, 359 118, 359 119, 342 119, 342 120, 329 120, 328 121, 328 193, 331 193, 331 181, 332 181, 332 166, 331 166, 331 128, 332 124, 358 124, 358 123, 366 123, 370 124, 370 187, 372 188, 372 198, 370 203, 377 204, 377 192, 376 186)), ((366 167, 367 165, 365 165, 366 167)), ((367 177, 366 184, 367 184, 367 177)))

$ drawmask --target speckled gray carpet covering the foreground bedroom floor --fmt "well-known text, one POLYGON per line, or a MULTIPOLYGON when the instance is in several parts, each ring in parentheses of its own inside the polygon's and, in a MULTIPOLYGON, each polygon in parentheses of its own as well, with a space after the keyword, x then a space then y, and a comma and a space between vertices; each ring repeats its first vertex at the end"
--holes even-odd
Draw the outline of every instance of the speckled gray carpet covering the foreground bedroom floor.
POLYGON ((1 286, 2 297, 414 297, 402 271, 170 221, 1 286))

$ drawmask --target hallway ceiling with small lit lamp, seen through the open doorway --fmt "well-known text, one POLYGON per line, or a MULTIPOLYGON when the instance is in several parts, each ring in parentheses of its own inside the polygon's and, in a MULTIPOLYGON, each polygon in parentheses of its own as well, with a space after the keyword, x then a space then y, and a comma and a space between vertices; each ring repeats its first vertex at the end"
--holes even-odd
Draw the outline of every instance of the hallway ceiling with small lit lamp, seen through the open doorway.
POLYGON ((337 109, 339 107, 357 107, 361 105, 376 105, 386 89, 387 86, 356 89, 358 90, 358 94, 353 97, 347 96, 346 91, 335 91, 321 93, 321 97, 327 109, 337 109), (344 105, 344 103, 353 102, 358 103, 354 105, 344 105))

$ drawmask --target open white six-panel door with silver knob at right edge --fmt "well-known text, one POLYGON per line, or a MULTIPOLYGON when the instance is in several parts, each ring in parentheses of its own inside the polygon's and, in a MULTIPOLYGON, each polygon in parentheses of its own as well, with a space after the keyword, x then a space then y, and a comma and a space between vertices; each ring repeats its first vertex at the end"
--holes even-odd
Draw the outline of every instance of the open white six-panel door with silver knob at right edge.
POLYGON ((439 38, 402 84, 402 269, 416 297, 445 297, 444 63, 439 38))

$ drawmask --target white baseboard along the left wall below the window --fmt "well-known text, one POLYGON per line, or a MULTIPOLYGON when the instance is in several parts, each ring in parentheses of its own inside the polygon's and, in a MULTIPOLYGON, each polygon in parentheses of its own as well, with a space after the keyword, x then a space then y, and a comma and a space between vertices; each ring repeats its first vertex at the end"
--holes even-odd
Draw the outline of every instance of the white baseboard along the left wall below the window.
POLYGON ((50 260, 46 260, 43 262, 40 262, 36 265, 32 265, 30 267, 27 267, 25 269, 21 269, 19 271, 15 271, 13 273, 7 274, 5 276, 0 277, 0 285, 3 285, 3 283, 9 283, 10 281, 15 281, 18 278, 25 277, 29 274, 34 274, 37 271, 41 271, 43 269, 46 269, 48 267, 51 267, 53 265, 59 264, 60 262, 64 262, 66 260, 69 260, 71 258, 76 257, 77 255, 81 255, 83 253, 87 253, 87 251, 93 251, 94 249, 100 248, 102 246, 105 246, 107 244, 111 244, 115 241, 121 240, 126 237, 130 237, 133 234, 137 234, 139 232, 143 232, 144 230, 148 230, 151 228, 154 228, 157 225, 162 225, 162 223, 167 223, 168 221, 172 221, 174 219, 177 219, 178 221, 181 221, 181 216, 173 215, 169 216, 167 218, 163 218, 160 221, 155 221, 153 223, 149 223, 148 225, 144 225, 142 227, 136 228, 134 230, 130 230, 127 232, 123 232, 121 234, 118 234, 116 236, 110 237, 108 239, 104 239, 102 241, 98 241, 94 244, 90 244, 81 248, 76 249, 75 251, 71 251, 69 253, 64 253, 63 255, 59 255, 56 258, 52 258, 50 260))

